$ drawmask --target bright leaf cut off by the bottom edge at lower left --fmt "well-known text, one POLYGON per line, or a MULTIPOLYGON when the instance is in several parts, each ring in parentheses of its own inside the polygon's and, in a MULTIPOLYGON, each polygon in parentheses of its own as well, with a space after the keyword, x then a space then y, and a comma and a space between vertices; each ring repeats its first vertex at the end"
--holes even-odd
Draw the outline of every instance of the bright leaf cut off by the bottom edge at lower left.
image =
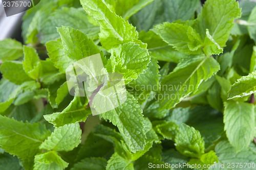
POLYGON ((63 161, 55 151, 49 151, 35 156, 34 170, 62 170, 68 167, 68 165, 69 163, 63 161))

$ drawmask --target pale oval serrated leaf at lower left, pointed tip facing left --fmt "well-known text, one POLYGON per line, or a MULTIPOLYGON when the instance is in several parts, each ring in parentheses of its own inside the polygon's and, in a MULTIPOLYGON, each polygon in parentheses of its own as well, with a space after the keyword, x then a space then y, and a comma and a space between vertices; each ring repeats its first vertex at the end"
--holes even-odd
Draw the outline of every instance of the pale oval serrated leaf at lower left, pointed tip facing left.
POLYGON ((54 132, 41 145, 40 149, 71 151, 81 142, 82 131, 78 123, 55 128, 54 132))

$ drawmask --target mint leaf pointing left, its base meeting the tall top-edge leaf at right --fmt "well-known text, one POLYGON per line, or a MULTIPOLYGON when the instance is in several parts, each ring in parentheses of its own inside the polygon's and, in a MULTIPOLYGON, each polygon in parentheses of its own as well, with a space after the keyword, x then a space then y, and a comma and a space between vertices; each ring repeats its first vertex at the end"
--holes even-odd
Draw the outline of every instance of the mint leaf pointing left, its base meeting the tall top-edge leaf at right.
POLYGON ((202 46, 202 40, 198 33, 190 26, 183 25, 182 23, 164 22, 161 25, 155 26, 153 31, 178 51, 189 54, 200 53, 198 49, 202 46))

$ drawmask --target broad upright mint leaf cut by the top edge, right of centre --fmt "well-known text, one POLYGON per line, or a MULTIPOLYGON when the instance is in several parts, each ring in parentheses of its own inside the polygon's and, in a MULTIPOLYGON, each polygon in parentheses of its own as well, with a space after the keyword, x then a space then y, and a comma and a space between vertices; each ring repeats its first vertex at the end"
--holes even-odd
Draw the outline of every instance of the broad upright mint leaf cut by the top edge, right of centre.
POLYGON ((235 0, 207 0, 194 28, 204 39, 206 29, 220 47, 224 47, 235 18, 241 16, 241 9, 235 0))

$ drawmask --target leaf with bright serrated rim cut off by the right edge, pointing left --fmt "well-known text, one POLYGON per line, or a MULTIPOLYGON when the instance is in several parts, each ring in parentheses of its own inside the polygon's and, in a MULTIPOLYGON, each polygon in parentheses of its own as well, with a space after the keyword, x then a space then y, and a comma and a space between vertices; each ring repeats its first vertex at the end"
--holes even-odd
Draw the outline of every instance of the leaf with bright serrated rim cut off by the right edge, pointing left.
POLYGON ((228 91, 228 99, 241 98, 256 92, 256 71, 235 82, 228 91))

